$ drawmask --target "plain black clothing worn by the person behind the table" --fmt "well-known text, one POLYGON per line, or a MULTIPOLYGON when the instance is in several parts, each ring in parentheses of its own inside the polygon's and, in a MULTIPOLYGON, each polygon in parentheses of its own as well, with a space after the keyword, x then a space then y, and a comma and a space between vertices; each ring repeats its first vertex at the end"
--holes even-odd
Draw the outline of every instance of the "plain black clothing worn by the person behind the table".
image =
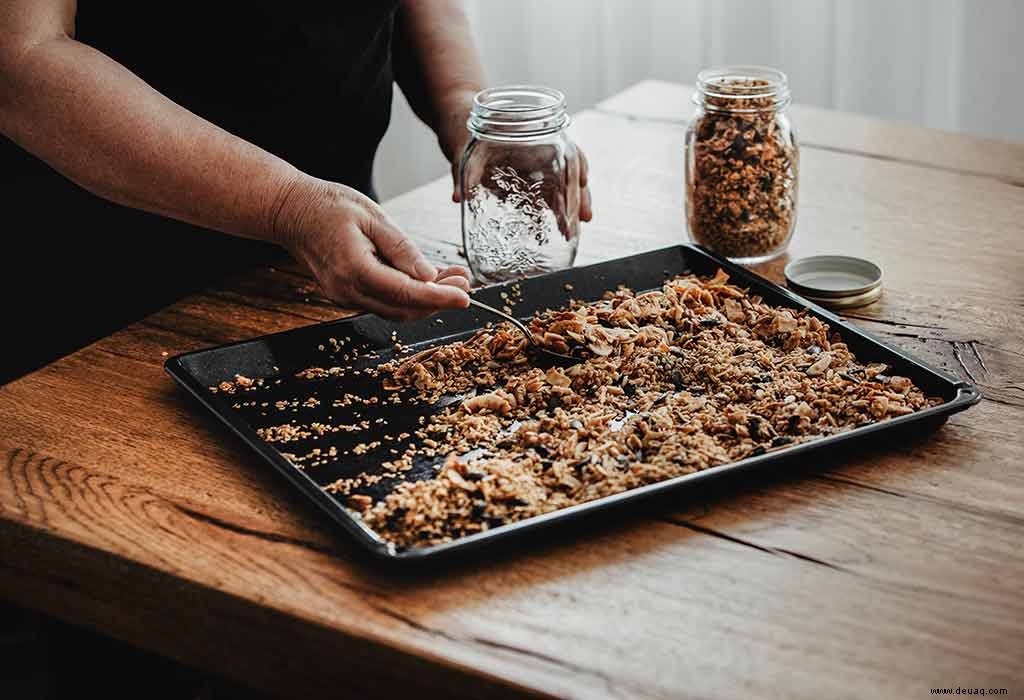
MULTIPOLYGON (((76 38, 221 128, 373 195, 397 0, 78 3, 76 38)), ((0 137, 0 383, 271 248, 133 211, 0 137)))

